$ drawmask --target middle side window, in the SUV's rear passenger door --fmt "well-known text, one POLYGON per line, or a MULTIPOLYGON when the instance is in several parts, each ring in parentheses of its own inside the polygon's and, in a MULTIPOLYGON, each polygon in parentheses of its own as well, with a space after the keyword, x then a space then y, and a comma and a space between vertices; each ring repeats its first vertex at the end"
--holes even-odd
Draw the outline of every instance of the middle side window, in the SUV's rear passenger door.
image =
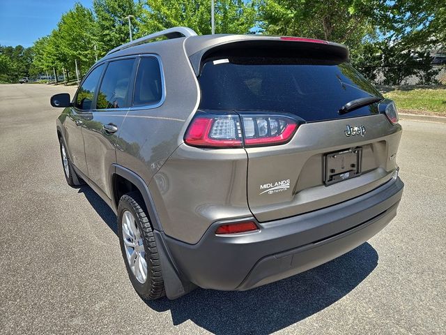
POLYGON ((134 59, 111 61, 100 84, 96 109, 129 107, 128 93, 134 59))

